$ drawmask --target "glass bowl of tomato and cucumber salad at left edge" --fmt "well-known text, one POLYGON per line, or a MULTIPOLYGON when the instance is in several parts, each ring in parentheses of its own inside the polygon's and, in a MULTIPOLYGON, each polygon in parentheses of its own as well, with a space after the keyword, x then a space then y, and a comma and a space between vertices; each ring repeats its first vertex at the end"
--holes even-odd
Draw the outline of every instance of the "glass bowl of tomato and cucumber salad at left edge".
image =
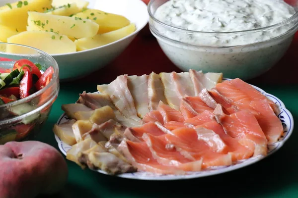
POLYGON ((0 73, 0 145, 30 139, 40 132, 58 96, 58 64, 41 50, 0 43, 0 73))

